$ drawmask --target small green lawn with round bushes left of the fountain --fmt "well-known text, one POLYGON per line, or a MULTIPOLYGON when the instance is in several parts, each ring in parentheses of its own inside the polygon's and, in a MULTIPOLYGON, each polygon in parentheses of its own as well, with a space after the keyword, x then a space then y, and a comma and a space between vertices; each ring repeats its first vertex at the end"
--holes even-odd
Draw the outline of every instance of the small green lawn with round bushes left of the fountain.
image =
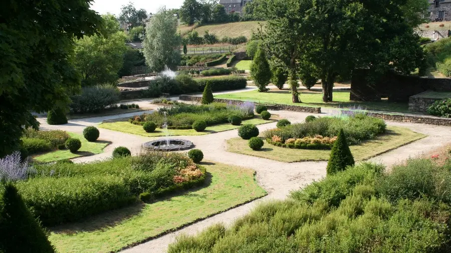
POLYGON ((96 142, 89 142, 81 134, 69 132, 69 135, 73 138, 79 138, 82 142, 81 148, 76 152, 72 153, 69 149, 55 150, 48 153, 40 154, 33 159, 39 162, 51 162, 63 159, 71 159, 80 156, 93 155, 103 152, 103 149, 109 144, 107 141, 97 140, 96 142))

